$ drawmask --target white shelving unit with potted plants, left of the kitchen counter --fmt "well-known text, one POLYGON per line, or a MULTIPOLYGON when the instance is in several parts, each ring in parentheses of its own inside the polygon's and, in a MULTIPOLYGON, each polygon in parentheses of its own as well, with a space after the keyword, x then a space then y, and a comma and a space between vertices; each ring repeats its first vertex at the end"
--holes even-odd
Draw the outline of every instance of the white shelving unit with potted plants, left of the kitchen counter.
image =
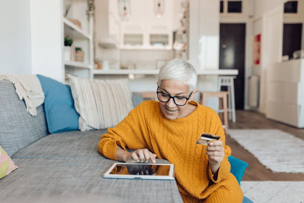
POLYGON ((82 78, 93 78, 94 48, 93 48, 93 19, 87 18, 86 0, 64 0, 63 12, 67 5, 71 5, 67 16, 62 16, 63 36, 62 49, 64 49, 64 37, 69 36, 73 40, 74 47, 81 47, 84 52, 84 61, 65 61, 63 58, 63 72, 76 75, 82 78), (69 19, 78 19, 81 28, 72 23, 69 19))

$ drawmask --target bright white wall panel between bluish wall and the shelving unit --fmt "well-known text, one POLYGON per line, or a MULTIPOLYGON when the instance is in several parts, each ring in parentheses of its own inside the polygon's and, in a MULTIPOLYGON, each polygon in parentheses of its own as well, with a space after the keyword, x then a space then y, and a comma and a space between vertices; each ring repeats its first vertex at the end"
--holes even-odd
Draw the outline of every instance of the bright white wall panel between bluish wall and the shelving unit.
POLYGON ((60 82, 64 82, 62 6, 61 0, 47 4, 41 0, 30 1, 32 74, 46 75, 60 82))

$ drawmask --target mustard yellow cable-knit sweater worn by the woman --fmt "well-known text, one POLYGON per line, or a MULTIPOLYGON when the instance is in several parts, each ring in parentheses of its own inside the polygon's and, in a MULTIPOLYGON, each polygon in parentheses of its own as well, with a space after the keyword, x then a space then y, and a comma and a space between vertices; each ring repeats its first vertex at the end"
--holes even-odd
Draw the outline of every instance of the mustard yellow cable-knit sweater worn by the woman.
POLYGON ((236 178, 230 173, 222 123, 214 110, 194 101, 195 111, 184 118, 168 120, 161 112, 159 102, 145 101, 130 111, 115 128, 103 135, 98 151, 116 159, 116 144, 123 149, 147 148, 157 158, 175 164, 175 179, 184 202, 242 202, 243 193, 236 178), (221 136, 225 157, 214 180, 204 145, 195 142, 200 135, 221 136))

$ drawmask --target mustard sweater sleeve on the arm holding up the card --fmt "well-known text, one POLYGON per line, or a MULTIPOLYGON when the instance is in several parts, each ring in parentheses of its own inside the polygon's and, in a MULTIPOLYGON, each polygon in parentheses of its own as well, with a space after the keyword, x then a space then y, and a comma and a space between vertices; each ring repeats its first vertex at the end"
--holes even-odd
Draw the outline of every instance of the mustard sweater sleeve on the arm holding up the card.
POLYGON ((216 112, 214 112, 212 117, 212 122, 214 122, 214 129, 212 130, 212 134, 221 136, 220 140, 223 142, 225 156, 221 162, 221 165, 219 166, 217 179, 214 180, 214 175, 212 174, 210 163, 208 163, 208 176, 213 183, 219 183, 222 180, 226 180, 230 173, 230 163, 228 161, 228 156, 231 155, 231 149, 228 145, 225 145, 225 132, 219 116, 216 114, 216 112))

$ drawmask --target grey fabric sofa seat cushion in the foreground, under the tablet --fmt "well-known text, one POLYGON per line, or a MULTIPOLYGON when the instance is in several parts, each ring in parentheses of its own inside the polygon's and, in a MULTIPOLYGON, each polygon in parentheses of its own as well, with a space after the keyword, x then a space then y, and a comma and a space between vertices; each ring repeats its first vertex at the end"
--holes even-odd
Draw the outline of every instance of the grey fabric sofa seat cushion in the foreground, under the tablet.
MULTIPOLYGON (((22 158, 0 180, 6 202, 182 202, 175 180, 103 178, 109 159, 22 158)), ((168 163, 159 159, 157 163, 168 163)))

